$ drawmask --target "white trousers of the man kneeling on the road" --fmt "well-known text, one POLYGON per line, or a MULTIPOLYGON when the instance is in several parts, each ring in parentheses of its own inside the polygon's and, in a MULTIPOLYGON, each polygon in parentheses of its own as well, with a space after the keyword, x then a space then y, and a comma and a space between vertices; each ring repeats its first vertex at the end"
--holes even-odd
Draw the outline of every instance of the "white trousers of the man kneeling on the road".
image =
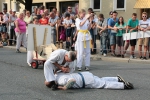
POLYGON ((44 76, 45 76, 45 80, 46 82, 51 82, 51 81, 55 81, 55 75, 54 75, 54 71, 56 70, 56 67, 54 66, 54 64, 50 63, 49 61, 46 61, 44 63, 44 76))

